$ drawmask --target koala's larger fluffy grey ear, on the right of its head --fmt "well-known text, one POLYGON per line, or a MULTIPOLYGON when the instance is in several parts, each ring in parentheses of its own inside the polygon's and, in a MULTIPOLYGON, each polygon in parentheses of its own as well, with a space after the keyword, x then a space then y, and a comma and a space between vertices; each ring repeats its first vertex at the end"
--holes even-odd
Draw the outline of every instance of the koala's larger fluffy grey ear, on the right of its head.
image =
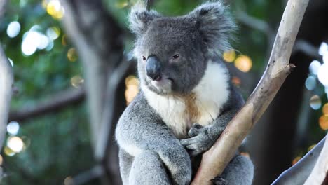
POLYGON ((187 16, 195 19, 209 49, 219 53, 231 49, 230 40, 237 27, 227 6, 220 1, 209 1, 187 16))

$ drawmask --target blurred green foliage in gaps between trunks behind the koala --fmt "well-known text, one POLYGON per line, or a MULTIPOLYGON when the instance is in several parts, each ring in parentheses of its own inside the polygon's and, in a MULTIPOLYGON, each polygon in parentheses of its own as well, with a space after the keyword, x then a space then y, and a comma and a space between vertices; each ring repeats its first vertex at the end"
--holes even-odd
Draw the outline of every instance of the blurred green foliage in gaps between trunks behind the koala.
MULTIPOLYGON (((23 111, 37 107, 40 102, 52 100, 53 95, 62 90, 81 88, 83 85, 83 71, 78 56, 60 25, 60 18, 64 15, 64 11, 51 9, 54 7, 49 6, 55 1, 57 0, 11 0, 8 2, 6 15, 0 22, 0 41, 6 55, 13 61, 15 73, 16 93, 11 104, 13 110, 23 111), (20 31, 17 36, 11 38, 7 34, 7 29, 14 21, 19 22, 20 31), (50 39, 51 35, 47 34, 47 30, 50 32, 50 29, 56 33, 56 39, 50 39), (46 48, 38 49, 32 55, 25 55, 22 51, 22 42, 30 31, 46 36, 48 44, 46 48)), ((125 28, 127 51, 132 48, 133 36, 127 29, 126 17, 134 2, 104 1, 107 9, 121 27, 125 28)), ((158 0, 153 4, 153 8, 164 15, 183 15, 201 2, 200 0, 158 0)), ((245 11, 254 18, 264 20, 274 30, 280 21, 284 6, 285 1, 238 0, 233 1, 231 9, 234 13, 245 11)), ((234 43, 236 55, 247 56, 250 60, 242 60, 239 64, 241 68, 235 57, 233 57, 235 62, 227 62, 227 64, 233 71, 233 83, 240 86, 242 93, 247 97, 266 66, 270 43, 265 33, 239 21, 238 25, 240 30, 236 34, 237 41, 234 43), (250 67, 246 67, 247 70, 244 72, 240 71, 245 65, 250 67)), ((312 60, 308 59, 308 64, 312 60)), ((304 84, 305 81, 302 80, 301 83, 304 84)), ((304 93, 308 93, 308 97, 300 98, 303 104, 299 106, 299 110, 306 109, 308 116, 299 117, 302 116, 299 114, 297 117, 303 119, 307 124, 306 128, 309 129, 306 130, 308 137, 303 138, 301 144, 294 146, 294 152, 291 154, 293 158, 306 153, 308 147, 318 142, 326 132, 324 127, 320 128, 318 118, 322 116, 322 107, 324 102, 327 102, 327 95, 324 93, 324 86, 320 83, 316 84, 312 91, 301 89, 304 93), (310 101, 312 95, 318 95, 316 101, 310 101), (316 110, 310 109, 310 103, 317 104, 319 107, 316 110)), ((22 139, 24 146, 17 152, 8 146, 2 151, 0 161, 6 173, 4 184, 69 184, 70 177, 95 165, 90 146, 88 112, 84 102, 67 106, 51 114, 18 121, 18 124, 20 129, 16 136, 22 139)), ((298 124, 294 125, 294 130, 289 130, 291 135, 298 130, 298 124)), ((9 131, 8 141, 13 137, 9 131)), ((252 151, 250 153, 252 157, 252 151)), ((288 159, 289 165, 292 165, 293 158, 288 159)), ((89 182, 89 184, 99 183, 97 180, 89 182)))

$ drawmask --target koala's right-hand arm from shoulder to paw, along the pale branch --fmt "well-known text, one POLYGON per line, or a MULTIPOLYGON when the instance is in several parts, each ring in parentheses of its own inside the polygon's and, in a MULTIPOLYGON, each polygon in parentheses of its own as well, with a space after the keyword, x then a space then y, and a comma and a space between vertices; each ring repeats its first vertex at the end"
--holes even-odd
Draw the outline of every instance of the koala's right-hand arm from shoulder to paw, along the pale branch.
POLYGON ((231 88, 228 102, 222 108, 222 113, 210 125, 202 126, 194 124, 189 130, 189 138, 181 139, 181 144, 189 151, 191 156, 197 156, 212 147, 217 138, 226 128, 233 116, 244 104, 241 95, 231 88))

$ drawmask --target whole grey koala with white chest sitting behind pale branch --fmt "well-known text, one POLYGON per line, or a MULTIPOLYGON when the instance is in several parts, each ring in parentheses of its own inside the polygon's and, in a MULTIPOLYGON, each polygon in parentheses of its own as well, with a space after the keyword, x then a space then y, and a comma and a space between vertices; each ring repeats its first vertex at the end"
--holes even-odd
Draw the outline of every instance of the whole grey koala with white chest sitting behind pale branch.
MULTIPOLYGON (((244 104, 221 55, 235 23, 221 1, 178 17, 139 3, 129 21, 140 87, 116 127, 123 184, 190 184, 201 154, 244 104)), ((212 184, 252 184, 253 171, 236 154, 212 184)))

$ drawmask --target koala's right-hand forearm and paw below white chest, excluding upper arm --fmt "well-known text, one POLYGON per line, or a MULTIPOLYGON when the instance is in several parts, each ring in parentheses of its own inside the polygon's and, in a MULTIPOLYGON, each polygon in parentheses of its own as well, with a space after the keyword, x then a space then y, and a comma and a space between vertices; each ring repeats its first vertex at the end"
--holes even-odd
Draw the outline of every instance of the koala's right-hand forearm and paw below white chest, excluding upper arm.
POLYGON ((194 124, 188 132, 189 138, 181 139, 181 144, 189 151, 191 156, 197 156, 207 151, 217 141, 217 138, 237 111, 238 109, 230 109, 224 112, 210 125, 194 124))

